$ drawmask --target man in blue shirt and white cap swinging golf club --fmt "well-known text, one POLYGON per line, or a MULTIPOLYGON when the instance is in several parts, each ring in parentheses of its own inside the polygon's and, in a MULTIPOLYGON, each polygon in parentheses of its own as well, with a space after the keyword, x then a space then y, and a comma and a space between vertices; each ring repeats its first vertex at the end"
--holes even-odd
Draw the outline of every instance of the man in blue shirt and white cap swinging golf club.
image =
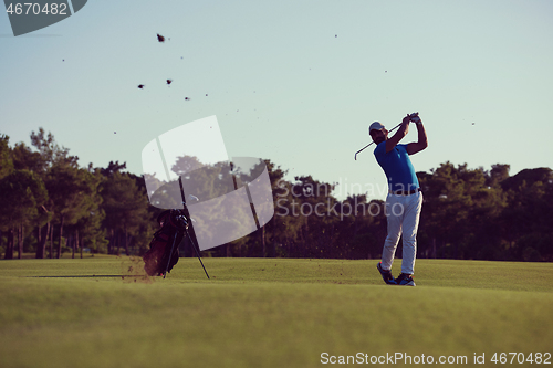
POLYGON ((425 127, 418 114, 411 114, 404 117, 399 129, 392 138, 388 138, 388 130, 378 122, 371 124, 368 133, 376 144, 374 150, 376 160, 388 179, 388 196, 386 197, 388 235, 384 242, 382 262, 378 262, 377 269, 387 284, 415 286, 413 274, 415 273, 417 229, 422 208, 422 192, 409 156, 428 146, 425 127), (418 140, 399 145, 399 141, 409 132, 409 123, 411 122, 417 125, 418 140), (401 274, 394 278, 392 264, 400 235, 403 235, 404 246, 401 274))

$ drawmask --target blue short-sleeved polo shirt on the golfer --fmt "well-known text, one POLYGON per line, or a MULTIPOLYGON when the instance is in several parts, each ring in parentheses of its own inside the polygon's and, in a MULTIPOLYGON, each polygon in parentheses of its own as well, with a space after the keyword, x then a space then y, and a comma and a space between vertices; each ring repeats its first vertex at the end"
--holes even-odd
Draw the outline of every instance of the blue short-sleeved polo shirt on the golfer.
POLYGON ((407 154, 407 145, 396 145, 386 154, 386 141, 383 141, 376 146, 374 154, 386 174, 389 190, 413 190, 419 187, 415 168, 407 154))

